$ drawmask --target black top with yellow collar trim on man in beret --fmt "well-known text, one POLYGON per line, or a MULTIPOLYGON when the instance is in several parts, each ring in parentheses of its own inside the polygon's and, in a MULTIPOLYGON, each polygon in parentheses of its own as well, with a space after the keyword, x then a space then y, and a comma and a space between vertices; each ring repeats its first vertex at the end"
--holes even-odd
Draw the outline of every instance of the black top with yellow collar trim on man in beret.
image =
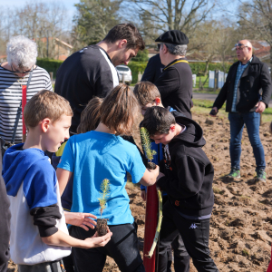
POLYGON ((155 82, 165 108, 171 107, 191 118, 192 73, 185 58, 169 63, 155 82))

